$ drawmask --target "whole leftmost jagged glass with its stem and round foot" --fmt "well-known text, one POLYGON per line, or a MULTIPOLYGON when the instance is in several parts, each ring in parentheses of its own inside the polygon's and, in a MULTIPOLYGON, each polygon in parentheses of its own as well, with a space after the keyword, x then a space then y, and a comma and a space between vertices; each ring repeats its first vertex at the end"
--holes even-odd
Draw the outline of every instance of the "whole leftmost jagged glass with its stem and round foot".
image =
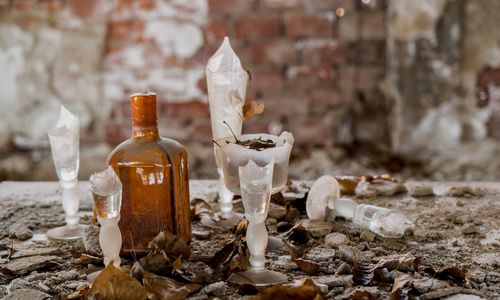
POLYGON ((80 121, 64 106, 56 125, 49 131, 50 149, 59 182, 63 188, 62 203, 66 213, 66 225, 50 229, 47 236, 56 240, 74 240, 82 237, 79 225, 79 195, 75 191, 80 165, 80 121))

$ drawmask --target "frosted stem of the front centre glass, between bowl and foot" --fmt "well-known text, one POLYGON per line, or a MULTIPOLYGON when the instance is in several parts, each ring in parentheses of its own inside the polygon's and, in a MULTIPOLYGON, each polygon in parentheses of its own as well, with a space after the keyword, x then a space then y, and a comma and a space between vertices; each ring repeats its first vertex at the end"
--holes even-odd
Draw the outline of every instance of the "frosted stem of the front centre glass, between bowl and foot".
POLYGON ((250 251, 250 265, 254 271, 265 269, 267 238, 267 229, 264 222, 255 223, 250 221, 247 228, 247 246, 250 251))

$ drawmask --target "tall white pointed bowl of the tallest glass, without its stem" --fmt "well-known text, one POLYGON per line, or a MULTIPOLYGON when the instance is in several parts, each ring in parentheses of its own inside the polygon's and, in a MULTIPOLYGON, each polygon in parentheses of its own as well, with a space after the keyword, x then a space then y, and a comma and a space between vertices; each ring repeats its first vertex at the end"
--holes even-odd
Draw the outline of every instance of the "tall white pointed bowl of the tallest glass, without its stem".
POLYGON ((205 72, 213 139, 231 136, 229 127, 236 135, 241 134, 248 73, 228 37, 208 60, 205 72))

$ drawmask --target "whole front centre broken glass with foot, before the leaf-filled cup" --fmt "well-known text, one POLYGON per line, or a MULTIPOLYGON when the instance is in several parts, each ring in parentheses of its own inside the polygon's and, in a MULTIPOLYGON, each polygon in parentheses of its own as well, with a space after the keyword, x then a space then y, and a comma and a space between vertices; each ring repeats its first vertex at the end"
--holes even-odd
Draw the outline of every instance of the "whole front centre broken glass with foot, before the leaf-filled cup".
POLYGON ((245 207, 245 218, 248 220, 246 242, 250 251, 251 268, 231 274, 228 280, 256 286, 286 282, 285 274, 267 270, 265 267, 268 235, 264 222, 271 201, 274 160, 264 166, 259 166, 250 160, 238 170, 241 199, 245 207))

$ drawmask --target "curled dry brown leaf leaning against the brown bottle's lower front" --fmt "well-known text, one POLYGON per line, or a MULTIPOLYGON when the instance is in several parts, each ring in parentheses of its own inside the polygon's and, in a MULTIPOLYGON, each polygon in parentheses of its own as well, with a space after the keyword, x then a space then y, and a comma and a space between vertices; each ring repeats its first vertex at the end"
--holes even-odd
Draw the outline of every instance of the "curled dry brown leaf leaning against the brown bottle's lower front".
POLYGON ((153 252, 163 253, 174 258, 182 255, 183 258, 191 256, 191 249, 186 241, 168 230, 161 231, 149 244, 148 248, 153 252))

